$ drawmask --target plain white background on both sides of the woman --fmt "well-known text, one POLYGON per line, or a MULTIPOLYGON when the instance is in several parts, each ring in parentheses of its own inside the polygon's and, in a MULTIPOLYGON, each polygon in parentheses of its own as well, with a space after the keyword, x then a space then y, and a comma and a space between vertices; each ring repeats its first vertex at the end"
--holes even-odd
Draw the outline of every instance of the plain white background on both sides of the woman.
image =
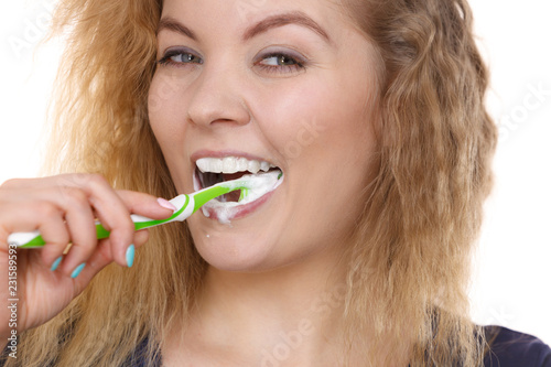
MULTIPOLYGON (((37 174, 60 46, 35 46, 53 2, 0 6, 0 183, 37 174)), ((551 344, 551 3, 471 3, 493 75, 488 108, 501 131, 474 262, 473 317, 551 344)))

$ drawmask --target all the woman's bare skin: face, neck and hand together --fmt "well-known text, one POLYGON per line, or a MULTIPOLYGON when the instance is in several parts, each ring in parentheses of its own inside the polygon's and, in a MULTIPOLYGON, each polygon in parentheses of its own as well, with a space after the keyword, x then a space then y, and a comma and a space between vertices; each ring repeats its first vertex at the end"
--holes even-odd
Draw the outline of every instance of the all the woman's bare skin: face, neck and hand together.
MULTIPOLYGON (((192 322, 175 322, 169 331, 164 364, 261 365, 287 337, 295 342, 285 342, 292 350, 278 359, 281 366, 342 365, 337 336, 346 269, 339 259, 374 171, 371 45, 335 4, 322 0, 168 0, 163 17, 195 33, 193 40, 159 32, 159 58, 175 46, 196 56, 187 65, 160 65, 149 100, 151 126, 179 191, 193 191, 201 154, 252 155, 285 175, 266 203, 231 226, 201 214, 188 219, 210 267, 192 322), (291 22, 244 39, 269 17, 299 12, 323 31, 312 22, 291 22), (282 55, 284 65, 277 62, 282 55)), ((115 191, 98 175, 0 186, 4 278, 9 234, 40 229, 47 242, 43 250, 18 252, 20 333, 55 316, 105 266, 127 266, 129 245, 140 247, 148 238, 147 231, 133 231, 131 213, 162 219, 172 211, 150 195, 115 191), (109 239, 95 239, 95 217, 111 230, 109 239), (69 239, 72 249, 50 270, 69 239)), ((7 337, 10 314, 2 310, 0 336, 7 337)), ((360 364, 356 349, 348 356, 350 365, 360 364)))

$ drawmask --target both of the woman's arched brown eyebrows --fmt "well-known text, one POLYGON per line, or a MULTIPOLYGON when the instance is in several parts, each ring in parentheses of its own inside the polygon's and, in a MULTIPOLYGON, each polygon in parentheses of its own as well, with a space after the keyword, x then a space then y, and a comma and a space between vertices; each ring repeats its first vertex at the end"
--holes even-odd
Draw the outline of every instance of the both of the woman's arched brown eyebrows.
MULTIPOLYGON (((270 29, 288 24, 299 24, 309 28, 315 33, 320 34, 323 39, 325 39, 325 41, 331 43, 331 39, 327 32, 325 32, 320 24, 317 24, 312 18, 307 17, 302 11, 268 17, 267 19, 248 28, 245 31, 242 39, 244 41, 248 41, 260 33, 267 32, 270 29)), ((177 20, 171 17, 164 17, 159 21, 159 25, 156 28, 156 34, 159 34, 159 32, 161 32, 162 30, 170 30, 183 34, 185 36, 188 36, 194 41, 197 41, 197 36, 192 30, 190 30, 187 26, 185 26, 184 24, 180 23, 177 20)))

